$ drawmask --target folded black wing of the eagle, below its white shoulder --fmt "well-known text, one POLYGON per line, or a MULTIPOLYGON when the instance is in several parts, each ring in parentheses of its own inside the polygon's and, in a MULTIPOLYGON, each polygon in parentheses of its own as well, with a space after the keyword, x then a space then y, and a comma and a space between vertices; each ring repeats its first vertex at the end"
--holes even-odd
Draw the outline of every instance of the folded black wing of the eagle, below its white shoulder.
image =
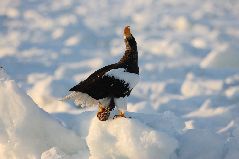
POLYGON ((131 92, 129 84, 122 79, 107 74, 120 68, 121 66, 117 63, 105 66, 95 71, 86 80, 72 87, 70 91, 86 93, 96 100, 106 97, 120 98, 129 95, 131 92))

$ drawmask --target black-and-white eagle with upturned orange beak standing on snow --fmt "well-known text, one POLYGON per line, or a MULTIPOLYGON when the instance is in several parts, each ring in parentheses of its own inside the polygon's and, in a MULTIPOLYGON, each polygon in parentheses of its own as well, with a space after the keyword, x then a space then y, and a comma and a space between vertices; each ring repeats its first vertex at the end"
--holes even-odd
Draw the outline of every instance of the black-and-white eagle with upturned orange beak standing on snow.
POLYGON ((97 117, 101 121, 108 120, 113 110, 116 112, 113 118, 125 117, 127 98, 139 81, 139 67, 137 43, 129 26, 124 28, 123 34, 123 57, 72 87, 71 93, 62 100, 72 99, 82 107, 98 105, 97 117))

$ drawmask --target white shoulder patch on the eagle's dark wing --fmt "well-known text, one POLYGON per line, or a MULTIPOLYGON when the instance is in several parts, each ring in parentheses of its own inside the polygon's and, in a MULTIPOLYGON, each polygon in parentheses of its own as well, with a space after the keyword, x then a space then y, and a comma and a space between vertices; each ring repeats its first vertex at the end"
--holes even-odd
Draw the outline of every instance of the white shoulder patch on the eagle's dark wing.
POLYGON ((129 84, 130 89, 134 88, 139 82, 138 74, 126 72, 124 68, 112 69, 106 72, 105 76, 125 81, 125 83, 129 84))

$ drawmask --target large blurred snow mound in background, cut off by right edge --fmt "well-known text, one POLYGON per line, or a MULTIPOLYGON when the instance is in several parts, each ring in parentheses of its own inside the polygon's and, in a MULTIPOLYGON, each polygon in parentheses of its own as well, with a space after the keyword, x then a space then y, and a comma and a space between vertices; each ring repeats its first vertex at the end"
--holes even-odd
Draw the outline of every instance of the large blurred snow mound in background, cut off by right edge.
POLYGON ((209 53, 200 66, 202 68, 238 68, 238 50, 237 45, 223 45, 209 53))

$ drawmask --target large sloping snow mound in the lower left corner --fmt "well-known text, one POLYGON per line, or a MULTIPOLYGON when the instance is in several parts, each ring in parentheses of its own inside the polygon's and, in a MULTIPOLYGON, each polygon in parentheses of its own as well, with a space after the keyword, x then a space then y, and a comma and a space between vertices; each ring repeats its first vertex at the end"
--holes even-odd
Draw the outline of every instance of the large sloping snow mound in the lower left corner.
POLYGON ((34 159, 51 147, 67 154, 84 150, 84 141, 40 109, 0 71, 0 158, 34 159))

